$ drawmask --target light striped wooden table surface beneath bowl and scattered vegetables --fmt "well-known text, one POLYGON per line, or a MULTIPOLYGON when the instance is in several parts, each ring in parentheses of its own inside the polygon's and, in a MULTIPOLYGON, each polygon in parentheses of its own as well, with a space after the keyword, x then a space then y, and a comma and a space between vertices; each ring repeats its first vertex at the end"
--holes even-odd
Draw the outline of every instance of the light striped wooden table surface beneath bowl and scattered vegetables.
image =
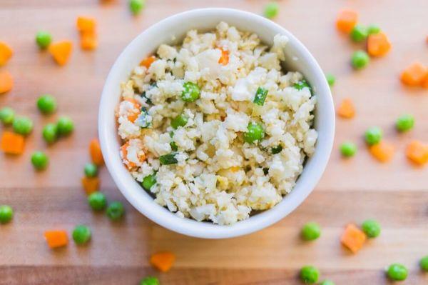
MULTIPOLYGON (((9 70, 16 81, 13 91, 0 96, 0 106, 11 106, 35 123, 25 154, 0 155, 0 204, 15 210, 14 220, 0 226, 0 284, 138 284, 148 274, 159 276, 161 284, 301 284, 297 274, 305 264, 317 266, 322 279, 336 284, 389 284, 383 270, 393 262, 409 268, 403 284, 428 284, 417 265, 428 254, 428 167, 416 168, 404 156, 411 139, 428 141, 428 92, 405 88, 397 79, 412 61, 428 64, 427 0, 280 1, 275 21, 301 39, 322 69, 337 76, 334 100, 351 97, 357 116, 337 119, 335 146, 322 180, 296 211, 274 226, 235 239, 203 240, 163 229, 128 203, 126 219, 119 223, 88 208, 80 184, 89 160, 88 141, 96 136, 103 81, 124 46, 151 24, 180 11, 223 6, 260 14, 265 3, 147 0, 146 10, 133 18, 126 1, 0 0, 0 40, 15 51, 1 70, 9 70), (360 45, 338 34, 334 25, 337 12, 347 7, 359 11, 362 23, 379 24, 393 46, 386 57, 373 59, 358 72, 352 71, 349 60, 360 45), (98 19, 96 51, 78 49, 75 21, 82 14, 98 19), (68 65, 56 66, 49 54, 38 51, 38 29, 51 31, 55 40, 73 40, 68 65), (43 117, 36 110, 36 98, 44 93, 58 99, 54 116, 43 117), (394 120, 406 112, 414 114, 416 126, 398 135, 394 120), (42 126, 60 114, 74 119, 76 131, 48 147, 41 138, 42 126), (397 148, 389 164, 374 161, 365 148, 362 134, 372 125, 381 126, 385 139, 397 148), (345 161, 337 149, 348 139, 360 150, 345 161), (37 149, 51 158, 49 169, 40 173, 29 159, 37 149), (340 245, 340 234, 345 224, 367 218, 382 224, 382 234, 352 255, 340 245), (299 239, 307 221, 322 226, 322 236, 312 243, 299 239), (76 224, 91 226, 91 244, 71 242, 64 249, 48 249, 45 230, 71 232, 76 224), (148 256, 159 250, 177 256, 166 274, 148 264, 148 256)), ((108 199, 125 202, 106 169, 101 179, 108 199)))

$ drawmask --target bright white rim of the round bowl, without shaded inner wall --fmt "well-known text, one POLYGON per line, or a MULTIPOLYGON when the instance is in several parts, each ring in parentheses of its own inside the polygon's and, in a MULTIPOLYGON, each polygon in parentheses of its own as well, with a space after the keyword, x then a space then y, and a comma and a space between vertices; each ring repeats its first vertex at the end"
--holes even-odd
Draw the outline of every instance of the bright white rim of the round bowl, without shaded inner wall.
MULTIPOLYGON (((228 20, 225 19, 224 21, 228 20)), ((318 108, 319 106, 317 101, 317 109, 318 108)), ((118 186, 118 189, 121 191, 123 196, 125 196, 128 202, 132 204, 138 211, 140 211, 141 214, 144 214, 146 217, 148 217, 148 219, 151 219, 151 221, 156 222, 157 224, 165 227, 166 229, 170 229, 171 231, 175 231, 180 234, 185 234, 187 236, 194 236, 205 239, 224 239, 250 234, 260 229, 264 229, 267 226, 275 224, 277 221, 280 221, 280 219, 287 216, 287 214, 290 214, 292 211, 294 211, 297 206, 299 206, 302 201, 304 201, 307 196, 312 192, 317 182, 320 180, 322 173, 325 171, 325 167, 327 166, 327 162, 330 158, 330 153, 332 151, 334 134, 335 111, 332 96, 330 93, 330 87, 327 84, 322 69, 317 64, 317 61, 312 56, 312 54, 310 54, 306 47, 297 38, 295 38, 295 36, 293 36, 289 31, 282 28, 282 26, 276 24, 275 22, 265 19, 262 16, 250 13, 248 11, 227 8, 206 8, 184 11, 179 14, 169 16, 161 21, 158 21, 156 24, 150 26, 141 34, 138 34, 138 36, 136 36, 136 38, 134 38, 126 46, 125 49, 123 49, 123 51, 111 67, 111 70, 109 71, 107 79, 103 86, 98 111, 98 136, 101 143, 101 150, 103 153, 104 161, 106 162, 107 169, 111 174, 113 181, 115 182, 116 186, 118 186), (106 120, 103 120, 103 118, 109 116, 108 114, 111 112, 111 110, 107 109, 106 107, 108 96, 112 96, 111 91, 109 91, 109 85, 111 85, 112 81, 115 80, 115 76, 118 74, 118 69, 120 68, 121 62, 126 61, 126 54, 128 54, 128 52, 133 49, 133 46, 145 40, 147 34, 156 31, 157 29, 160 29, 162 26, 171 26, 177 21, 186 21, 192 18, 193 16, 200 16, 201 13, 218 14, 219 21, 223 21, 220 17, 222 15, 239 16, 243 18, 243 21, 257 21, 259 24, 267 26, 268 29, 277 31, 277 33, 280 34, 285 34, 289 38, 289 44, 295 46, 295 49, 299 50, 302 53, 304 61, 307 62, 308 66, 312 66, 312 72, 316 75, 317 80, 320 79, 318 80, 317 84, 317 96, 323 94, 323 96, 325 97, 323 98, 325 100, 325 105, 322 107, 322 109, 325 109, 325 119, 327 121, 323 121, 323 128, 325 128, 325 133, 323 134, 324 139, 322 142, 320 142, 320 137, 318 138, 317 144, 315 145, 315 153, 310 159, 315 159, 316 156, 317 161, 313 163, 315 165, 311 169, 311 174, 307 174, 310 176, 305 176, 306 180, 302 181, 302 174, 305 172, 305 169, 307 167, 304 166, 302 174, 300 174, 299 179, 297 179, 297 182, 293 187, 292 191, 290 191, 290 194, 287 194, 285 196, 287 197, 288 206, 281 206, 281 204, 285 204, 284 197, 279 204, 275 205, 271 209, 263 211, 262 213, 257 214, 255 216, 250 216, 249 219, 238 221, 237 223, 230 226, 212 224, 208 222, 200 222, 195 221, 193 219, 182 219, 173 214, 172 212, 168 211, 168 209, 165 209, 164 207, 156 204, 153 201, 153 198, 146 193, 145 194, 146 196, 148 196, 149 199, 147 199, 147 197, 142 197, 139 200, 135 199, 136 195, 132 192, 133 189, 131 189, 133 188, 133 186, 129 185, 131 182, 129 182, 129 179, 126 178, 126 176, 124 176, 123 174, 123 169, 125 167, 123 166, 123 164, 116 165, 116 162, 113 162, 111 156, 111 154, 113 154, 113 151, 116 151, 118 155, 118 150, 114 149, 111 146, 110 141, 112 139, 112 136, 115 138, 117 137, 117 126, 115 126, 114 128, 116 129, 115 133, 111 134, 111 128, 108 124, 106 124, 106 120), (301 186, 302 184, 305 184, 305 186, 301 186), (298 192, 297 194, 293 194, 295 193, 295 189, 297 188, 297 186, 300 186, 298 189, 300 192, 298 192)), ((126 170, 126 172, 128 173, 128 176, 132 178, 128 170, 126 170)), ((138 186, 138 188, 141 189, 141 186, 139 186, 134 179, 132 180, 133 184, 135 184, 135 186, 138 186)))

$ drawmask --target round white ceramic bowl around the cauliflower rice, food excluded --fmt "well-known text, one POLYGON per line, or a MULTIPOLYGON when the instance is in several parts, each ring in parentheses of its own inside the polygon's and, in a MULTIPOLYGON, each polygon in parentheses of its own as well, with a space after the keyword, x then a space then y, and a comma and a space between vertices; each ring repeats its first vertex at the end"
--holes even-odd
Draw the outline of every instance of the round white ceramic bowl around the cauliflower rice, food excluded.
POLYGON ((131 44, 126 46, 126 49, 113 64, 104 85, 98 115, 98 132, 104 160, 113 180, 126 199, 142 214, 167 229, 180 234, 207 239, 223 239, 250 234, 270 226, 290 214, 305 200, 320 179, 330 157, 334 131, 335 112, 330 88, 320 66, 310 52, 282 26, 261 16, 233 9, 186 11, 170 16, 143 31, 131 41, 131 44), (220 21, 225 21, 240 30, 258 34, 267 45, 272 45, 272 39, 276 34, 288 36, 290 41, 285 50, 287 69, 302 72, 317 94, 315 129, 317 129, 319 136, 315 146, 315 154, 307 160, 294 189, 272 209, 251 216, 245 221, 239 221, 232 226, 219 226, 208 222, 181 219, 168 209, 156 204, 151 196, 132 178, 121 162, 119 155, 120 140, 117 135, 114 115, 121 94, 120 84, 122 81, 126 81, 141 59, 156 51, 161 44, 177 44, 190 29, 212 30, 220 21), (174 38, 175 40, 173 40, 174 38))

